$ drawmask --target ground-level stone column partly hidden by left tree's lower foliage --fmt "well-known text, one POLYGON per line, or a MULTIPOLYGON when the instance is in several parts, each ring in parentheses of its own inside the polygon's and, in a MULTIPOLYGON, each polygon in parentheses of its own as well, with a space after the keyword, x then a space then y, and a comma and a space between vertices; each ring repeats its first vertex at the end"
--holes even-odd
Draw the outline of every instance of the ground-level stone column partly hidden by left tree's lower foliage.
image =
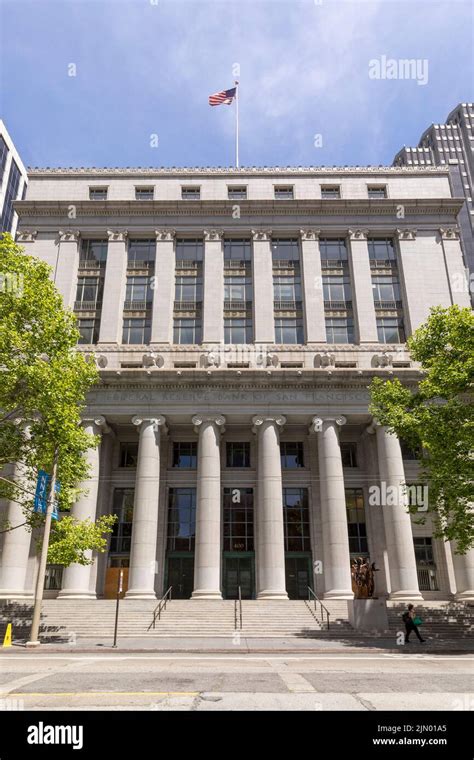
MULTIPOLYGON (((99 435, 104 430, 105 418, 97 416, 94 419, 85 419, 82 422, 84 430, 91 435, 99 435)), ((105 429, 107 429, 105 427, 105 429)), ((71 515, 76 520, 95 521, 97 514, 97 495, 99 492, 99 470, 100 470, 100 449, 99 446, 88 449, 86 453, 87 464, 89 465, 89 476, 87 481, 82 483, 81 488, 84 492, 79 500, 74 504, 71 515)), ((88 552, 87 556, 92 557, 88 552)), ((95 599, 96 592, 92 589, 91 583, 92 565, 69 565, 64 570, 63 587, 58 594, 58 599, 95 599)))

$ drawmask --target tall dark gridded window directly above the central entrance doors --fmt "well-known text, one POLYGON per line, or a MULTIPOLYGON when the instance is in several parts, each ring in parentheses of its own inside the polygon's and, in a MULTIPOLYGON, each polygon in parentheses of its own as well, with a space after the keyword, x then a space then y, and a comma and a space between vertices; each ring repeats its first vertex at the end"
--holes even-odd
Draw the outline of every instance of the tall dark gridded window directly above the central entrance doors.
POLYGON ((224 551, 254 551, 253 489, 224 488, 224 551))

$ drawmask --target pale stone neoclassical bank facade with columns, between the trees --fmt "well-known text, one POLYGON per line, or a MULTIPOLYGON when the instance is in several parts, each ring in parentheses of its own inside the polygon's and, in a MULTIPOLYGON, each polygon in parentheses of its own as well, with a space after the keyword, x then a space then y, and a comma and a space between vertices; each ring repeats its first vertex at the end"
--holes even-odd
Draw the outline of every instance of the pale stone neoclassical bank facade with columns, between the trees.
MULTIPOLYGON (((73 512, 118 516, 48 593, 111 596, 125 568, 128 598, 350 599, 370 557, 379 597, 474 598, 474 553, 411 519, 413 452, 368 408, 373 377, 418 381, 430 307, 469 304, 462 203, 439 167, 31 171, 17 239, 101 376, 73 512)), ((30 534, 0 569, 1 596, 31 595, 30 534)))

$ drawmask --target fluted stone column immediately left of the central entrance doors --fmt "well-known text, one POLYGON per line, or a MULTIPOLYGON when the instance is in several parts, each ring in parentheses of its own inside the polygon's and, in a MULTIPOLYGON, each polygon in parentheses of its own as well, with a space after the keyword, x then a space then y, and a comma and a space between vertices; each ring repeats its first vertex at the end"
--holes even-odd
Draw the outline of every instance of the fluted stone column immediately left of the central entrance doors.
POLYGON ((192 421, 199 433, 193 598, 222 599, 220 434, 225 417, 196 414, 192 421))

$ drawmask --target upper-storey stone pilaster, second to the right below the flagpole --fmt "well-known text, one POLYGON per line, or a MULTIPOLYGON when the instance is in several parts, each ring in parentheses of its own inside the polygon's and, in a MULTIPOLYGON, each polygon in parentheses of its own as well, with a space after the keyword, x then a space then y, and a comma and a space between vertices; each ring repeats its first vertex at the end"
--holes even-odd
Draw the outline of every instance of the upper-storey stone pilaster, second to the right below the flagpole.
POLYGON ((319 230, 300 230, 305 334, 308 343, 326 343, 319 230))

